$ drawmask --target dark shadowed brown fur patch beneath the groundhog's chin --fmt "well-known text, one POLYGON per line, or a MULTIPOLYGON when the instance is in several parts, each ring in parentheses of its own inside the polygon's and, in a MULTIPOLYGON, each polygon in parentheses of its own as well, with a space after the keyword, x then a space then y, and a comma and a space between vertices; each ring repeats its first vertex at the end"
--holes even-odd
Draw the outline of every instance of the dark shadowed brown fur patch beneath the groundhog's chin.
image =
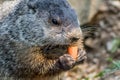
POLYGON ((58 58, 67 54, 68 45, 46 45, 41 48, 47 58, 58 58))

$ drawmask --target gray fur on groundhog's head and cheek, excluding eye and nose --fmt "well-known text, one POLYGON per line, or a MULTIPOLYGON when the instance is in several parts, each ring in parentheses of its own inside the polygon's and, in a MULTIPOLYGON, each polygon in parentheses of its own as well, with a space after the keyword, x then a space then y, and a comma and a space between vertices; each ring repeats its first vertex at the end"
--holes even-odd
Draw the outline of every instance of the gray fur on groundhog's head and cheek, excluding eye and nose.
POLYGON ((66 0, 21 0, 2 23, 1 34, 29 45, 67 44, 76 30, 80 30, 68 31, 78 27, 78 23, 66 0), (59 20, 60 25, 52 24, 52 19, 59 20))

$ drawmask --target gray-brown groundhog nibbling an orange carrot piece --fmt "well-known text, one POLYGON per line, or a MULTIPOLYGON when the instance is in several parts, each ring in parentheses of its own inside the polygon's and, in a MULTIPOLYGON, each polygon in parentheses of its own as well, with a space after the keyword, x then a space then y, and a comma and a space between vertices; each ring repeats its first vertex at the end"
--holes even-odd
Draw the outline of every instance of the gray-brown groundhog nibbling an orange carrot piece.
POLYGON ((85 60, 80 24, 66 0, 15 1, 0 12, 0 80, 53 80, 85 60), (76 60, 70 45, 79 47, 76 60))

